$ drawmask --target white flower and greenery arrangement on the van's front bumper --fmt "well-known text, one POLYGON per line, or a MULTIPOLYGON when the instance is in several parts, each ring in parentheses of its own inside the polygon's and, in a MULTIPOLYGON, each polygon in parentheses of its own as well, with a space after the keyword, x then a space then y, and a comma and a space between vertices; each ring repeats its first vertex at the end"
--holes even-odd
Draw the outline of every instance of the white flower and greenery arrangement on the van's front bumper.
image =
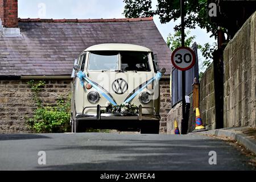
MULTIPOLYGON (((121 105, 113 105, 110 103, 106 104, 106 112, 107 113, 138 113, 138 107, 131 103, 121 104, 121 105)), ((105 110, 103 111, 105 112, 105 110)))

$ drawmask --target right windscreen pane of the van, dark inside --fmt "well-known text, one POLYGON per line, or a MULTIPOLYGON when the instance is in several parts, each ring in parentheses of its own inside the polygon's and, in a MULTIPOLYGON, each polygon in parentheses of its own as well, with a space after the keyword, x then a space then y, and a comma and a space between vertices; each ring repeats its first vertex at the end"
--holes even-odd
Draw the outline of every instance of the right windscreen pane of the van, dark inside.
POLYGON ((150 72, 148 52, 123 51, 121 55, 122 71, 150 72))

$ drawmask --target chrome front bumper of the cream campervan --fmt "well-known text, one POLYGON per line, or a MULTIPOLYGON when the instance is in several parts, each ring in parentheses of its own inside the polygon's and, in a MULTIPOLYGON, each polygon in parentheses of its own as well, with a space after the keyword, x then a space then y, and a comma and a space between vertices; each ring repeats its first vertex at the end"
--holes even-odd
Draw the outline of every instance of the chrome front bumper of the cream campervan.
MULTIPOLYGON (((97 105, 97 114, 84 114, 78 113, 76 114, 76 121, 92 121, 92 120, 151 120, 151 121, 159 121, 160 115, 155 113, 154 108, 152 107, 142 107, 139 105, 138 114, 131 113, 101 113, 101 106, 97 105), (142 114, 142 109, 151 109, 154 114, 142 114)), ((85 107, 92 108, 92 107, 85 107)), ((83 112, 84 112, 83 110, 83 112)))

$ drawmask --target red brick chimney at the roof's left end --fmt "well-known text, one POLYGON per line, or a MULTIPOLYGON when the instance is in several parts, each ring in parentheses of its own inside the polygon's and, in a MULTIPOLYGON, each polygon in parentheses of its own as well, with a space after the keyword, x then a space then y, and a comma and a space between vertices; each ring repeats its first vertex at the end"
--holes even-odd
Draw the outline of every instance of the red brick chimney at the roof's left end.
POLYGON ((4 28, 18 27, 18 0, 0 0, 0 19, 4 28))

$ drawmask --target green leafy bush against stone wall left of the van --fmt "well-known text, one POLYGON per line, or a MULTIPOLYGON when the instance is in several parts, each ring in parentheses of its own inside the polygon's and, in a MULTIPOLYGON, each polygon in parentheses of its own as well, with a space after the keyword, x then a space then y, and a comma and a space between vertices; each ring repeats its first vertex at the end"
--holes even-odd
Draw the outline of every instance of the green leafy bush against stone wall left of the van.
POLYGON ((34 117, 27 119, 30 129, 37 133, 61 133, 70 130, 70 98, 66 103, 63 98, 59 98, 56 106, 43 106, 38 93, 45 82, 39 81, 38 84, 35 84, 34 80, 31 80, 28 84, 31 86, 34 93, 33 99, 37 105, 37 109, 34 110, 34 117))

